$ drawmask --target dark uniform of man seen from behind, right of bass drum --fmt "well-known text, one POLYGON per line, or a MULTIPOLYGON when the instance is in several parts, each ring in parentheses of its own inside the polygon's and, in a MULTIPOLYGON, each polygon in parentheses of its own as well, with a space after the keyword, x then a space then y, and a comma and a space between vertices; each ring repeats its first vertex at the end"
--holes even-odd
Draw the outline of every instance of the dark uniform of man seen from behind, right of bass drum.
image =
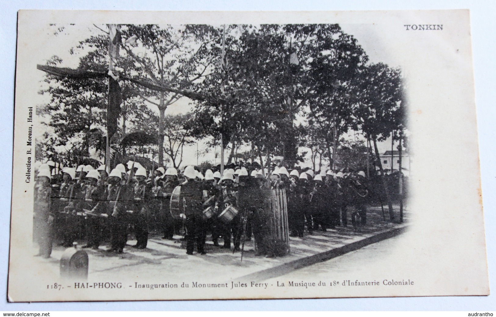
POLYGON ((193 254, 194 243, 199 254, 205 254, 206 225, 202 215, 203 190, 200 182, 188 179, 181 185, 186 215, 186 253, 193 254))

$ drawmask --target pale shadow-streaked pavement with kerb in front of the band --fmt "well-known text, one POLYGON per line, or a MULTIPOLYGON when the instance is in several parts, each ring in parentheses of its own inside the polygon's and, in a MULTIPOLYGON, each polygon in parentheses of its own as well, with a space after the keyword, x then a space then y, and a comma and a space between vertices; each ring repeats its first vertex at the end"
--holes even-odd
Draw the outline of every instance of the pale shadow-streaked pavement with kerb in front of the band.
MULTIPOLYGON (((397 209, 397 206, 395 206, 397 209)), ((386 216, 387 217, 387 216, 386 216)), ((87 250, 89 255, 89 280, 153 280, 157 276, 174 280, 189 280, 195 276, 236 280, 264 280, 294 269, 357 250, 371 243, 387 239, 401 233, 408 224, 405 211, 403 224, 382 220, 380 207, 368 210, 368 224, 362 232, 355 232, 351 225, 328 229, 327 232, 314 232, 304 238, 290 238, 291 253, 284 257, 266 258, 255 256, 253 240, 245 244, 245 253, 233 254, 232 250, 214 247, 207 237, 206 255, 187 255, 184 242, 162 240, 158 234, 151 235, 147 249, 137 250, 129 240, 124 254, 108 253, 107 246, 98 251, 87 250)), ((349 221, 351 223, 351 221, 349 221)), ((131 236, 130 236, 131 237, 131 236)), ((175 236, 179 239, 179 236, 175 236)), ((222 243, 221 243, 222 245, 222 243)), ((57 247, 50 259, 36 258, 35 262, 51 267, 54 274, 59 272, 59 261, 65 249, 57 247), (47 265, 48 264, 48 265, 47 265)), ((33 254, 36 249, 33 248, 33 254)))

